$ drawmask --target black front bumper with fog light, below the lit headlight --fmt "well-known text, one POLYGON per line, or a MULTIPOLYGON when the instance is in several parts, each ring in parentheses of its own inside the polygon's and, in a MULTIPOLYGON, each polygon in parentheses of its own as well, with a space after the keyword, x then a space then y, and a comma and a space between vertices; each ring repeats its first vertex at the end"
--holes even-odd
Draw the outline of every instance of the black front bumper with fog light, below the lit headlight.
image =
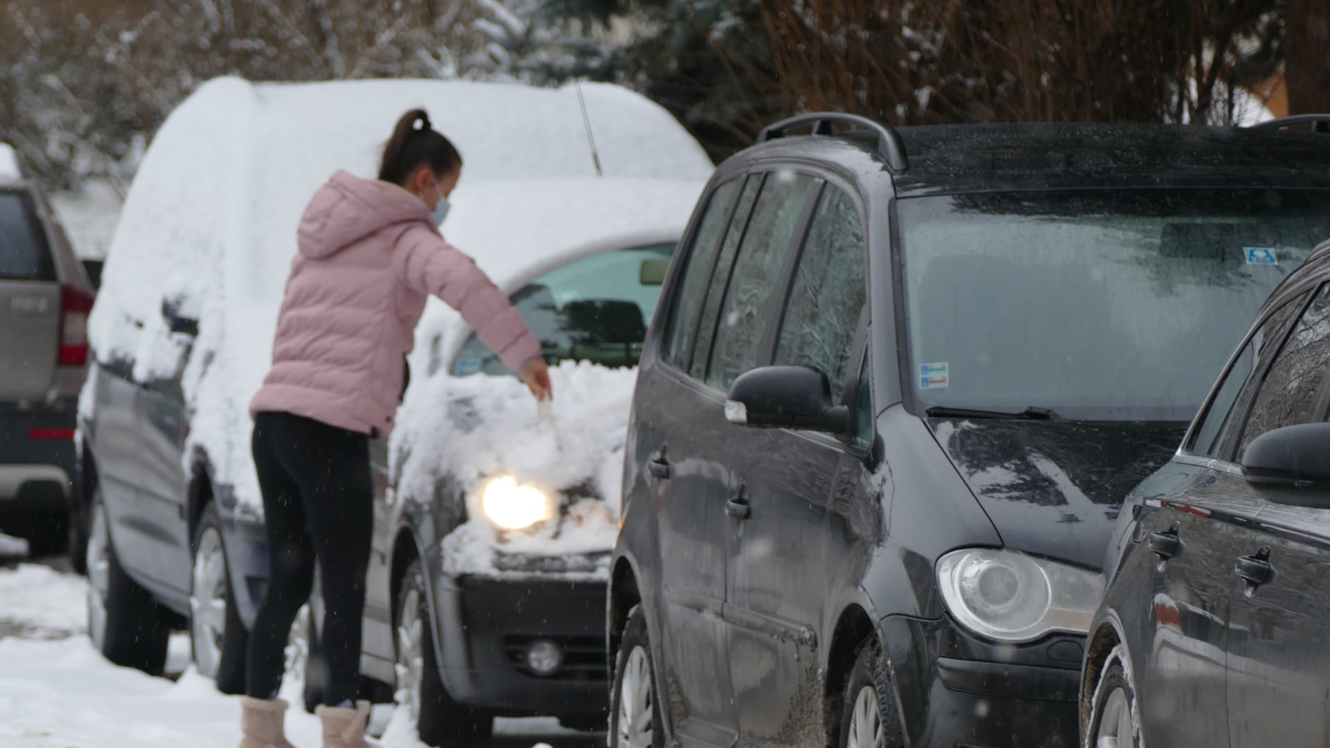
POLYGON ((459 703, 504 716, 605 715, 604 582, 439 576, 434 611, 440 675, 459 703), (564 667, 548 677, 524 661, 541 639, 564 650, 564 667))

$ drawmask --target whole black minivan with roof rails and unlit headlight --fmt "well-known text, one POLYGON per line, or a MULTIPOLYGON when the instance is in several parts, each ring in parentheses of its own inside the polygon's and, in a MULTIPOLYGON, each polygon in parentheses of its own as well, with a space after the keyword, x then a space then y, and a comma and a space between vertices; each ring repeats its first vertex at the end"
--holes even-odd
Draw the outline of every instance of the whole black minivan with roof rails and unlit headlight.
POLYGON ((1330 141, 845 114, 761 141, 644 347, 613 744, 1075 745, 1121 500, 1330 237, 1330 141))

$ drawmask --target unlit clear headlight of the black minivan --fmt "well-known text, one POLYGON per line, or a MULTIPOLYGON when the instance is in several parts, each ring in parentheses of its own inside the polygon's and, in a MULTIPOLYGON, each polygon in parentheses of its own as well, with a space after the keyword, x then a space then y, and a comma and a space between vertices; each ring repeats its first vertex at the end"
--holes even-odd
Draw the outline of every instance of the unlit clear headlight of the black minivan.
POLYGON ((1104 595, 1099 574, 994 548, 942 556, 938 584, 958 623, 980 636, 1012 643, 1053 631, 1087 634, 1104 595))

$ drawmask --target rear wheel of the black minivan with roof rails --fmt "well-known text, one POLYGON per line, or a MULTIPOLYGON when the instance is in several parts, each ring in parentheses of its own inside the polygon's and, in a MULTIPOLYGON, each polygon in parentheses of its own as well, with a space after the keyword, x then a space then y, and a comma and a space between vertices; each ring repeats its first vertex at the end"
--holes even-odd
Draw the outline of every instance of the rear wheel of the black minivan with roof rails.
POLYGON ((609 707, 612 748, 661 748, 665 725, 656 695, 656 669, 641 607, 628 615, 614 663, 614 692, 609 707))

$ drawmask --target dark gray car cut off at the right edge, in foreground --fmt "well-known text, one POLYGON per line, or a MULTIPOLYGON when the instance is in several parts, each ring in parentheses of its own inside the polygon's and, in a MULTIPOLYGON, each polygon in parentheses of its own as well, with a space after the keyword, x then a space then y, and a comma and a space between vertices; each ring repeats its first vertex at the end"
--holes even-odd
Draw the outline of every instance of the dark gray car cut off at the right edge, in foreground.
POLYGON ((1127 499, 1085 659, 1087 745, 1326 744, 1327 370, 1330 244, 1127 499))

